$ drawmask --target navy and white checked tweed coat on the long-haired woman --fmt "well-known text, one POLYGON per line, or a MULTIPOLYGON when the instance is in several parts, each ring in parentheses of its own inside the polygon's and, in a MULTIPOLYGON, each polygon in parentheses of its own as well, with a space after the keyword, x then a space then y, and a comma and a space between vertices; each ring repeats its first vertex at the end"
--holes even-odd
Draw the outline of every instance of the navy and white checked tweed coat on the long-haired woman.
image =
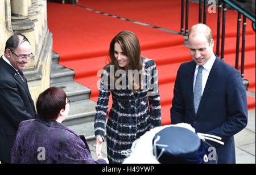
MULTIPOLYGON (((96 136, 104 136, 106 130, 109 163, 122 163, 126 158, 122 151, 130 149, 134 140, 146 131, 162 124, 155 61, 147 58, 142 58, 141 61, 146 83, 137 92, 129 89, 129 83, 126 84, 126 89, 106 89, 108 86, 104 86, 104 79, 101 78, 94 131, 96 136), (105 126, 110 92, 113 104, 105 126)), ((105 72, 110 75, 111 71, 105 72)))

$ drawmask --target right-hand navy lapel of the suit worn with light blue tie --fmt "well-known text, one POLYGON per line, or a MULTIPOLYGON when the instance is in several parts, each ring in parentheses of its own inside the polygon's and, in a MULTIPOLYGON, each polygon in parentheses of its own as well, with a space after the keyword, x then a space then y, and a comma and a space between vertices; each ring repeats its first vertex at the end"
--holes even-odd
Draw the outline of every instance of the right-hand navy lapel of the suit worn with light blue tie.
POLYGON ((196 118, 199 117, 199 114, 200 114, 201 110, 204 107, 205 101, 207 100, 207 98, 209 96, 209 93, 210 93, 210 91, 213 87, 214 81, 215 81, 215 79, 218 75, 217 70, 218 70, 219 65, 220 65, 220 58, 218 58, 216 56, 216 59, 215 59, 215 61, 213 63, 213 66, 212 66, 212 69, 210 70, 210 74, 208 76, 207 83, 205 84, 203 96, 201 97, 201 100, 200 100, 200 104, 199 104, 199 108, 197 110, 196 118))

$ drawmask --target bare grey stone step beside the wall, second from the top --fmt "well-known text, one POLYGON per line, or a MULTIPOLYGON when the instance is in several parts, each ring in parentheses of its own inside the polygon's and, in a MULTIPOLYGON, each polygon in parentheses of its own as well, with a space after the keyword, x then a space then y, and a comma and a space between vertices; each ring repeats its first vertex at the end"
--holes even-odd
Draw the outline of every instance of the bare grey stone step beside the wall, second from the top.
POLYGON ((51 84, 61 82, 71 82, 75 76, 75 71, 59 64, 53 64, 51 67, 51 84))

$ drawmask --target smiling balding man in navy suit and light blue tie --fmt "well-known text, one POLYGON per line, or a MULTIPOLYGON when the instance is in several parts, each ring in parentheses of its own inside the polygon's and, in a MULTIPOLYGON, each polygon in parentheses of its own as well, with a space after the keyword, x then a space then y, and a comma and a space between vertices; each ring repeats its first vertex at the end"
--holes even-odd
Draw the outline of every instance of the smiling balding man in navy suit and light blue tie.
POLYGON ((188 46, 193 61, 182 63, 177 71, 171 122, 189 123, 196 133, 220 136, 224 145, 211 143, 218 163, 236 163, 234 134, 247 125, 246 90, 240 72, 214 55, 207 25, 192 26, 188 46))

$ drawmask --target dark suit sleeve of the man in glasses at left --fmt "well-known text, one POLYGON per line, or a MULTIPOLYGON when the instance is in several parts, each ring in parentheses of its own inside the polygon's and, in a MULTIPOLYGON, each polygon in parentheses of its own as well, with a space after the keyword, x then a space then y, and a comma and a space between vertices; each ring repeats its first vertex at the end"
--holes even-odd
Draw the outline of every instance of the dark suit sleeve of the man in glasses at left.
POLYGON ((23 120, 32 119, 26 111, 20 92, 15 83, 5 80, 0 84, 0 106, 1 112, 6 120, 18 129, 19 123, 23 120))

